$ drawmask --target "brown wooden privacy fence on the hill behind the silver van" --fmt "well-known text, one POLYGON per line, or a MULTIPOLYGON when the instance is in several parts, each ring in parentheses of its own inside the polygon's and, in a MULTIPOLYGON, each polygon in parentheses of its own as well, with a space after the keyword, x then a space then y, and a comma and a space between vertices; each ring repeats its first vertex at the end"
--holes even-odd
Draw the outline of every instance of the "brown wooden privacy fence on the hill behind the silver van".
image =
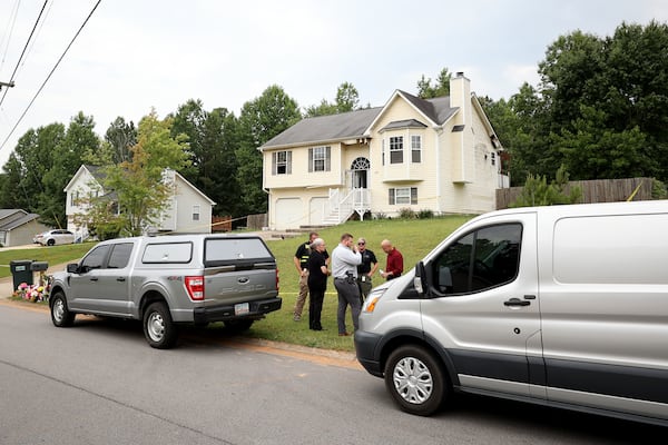
MULTIPOLYGON (((652 199, 652 178, 569 181, 564 187, 564 192, 568 195, 573 186, 579 186, 582 190, 581 202, 583 204, 626 201, 637 188, 638 191, 633 195, 633 201, 652 199)), ((523 187, 497 189, 497 209, 508 208, 520 196, 522 189, 523 187)))

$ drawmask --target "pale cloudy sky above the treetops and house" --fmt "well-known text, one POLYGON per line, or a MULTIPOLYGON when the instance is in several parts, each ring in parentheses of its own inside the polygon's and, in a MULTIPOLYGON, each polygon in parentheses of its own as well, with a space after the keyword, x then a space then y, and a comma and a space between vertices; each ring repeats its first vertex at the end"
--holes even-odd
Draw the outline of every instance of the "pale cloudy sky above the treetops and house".
MULTIPOLYGON (((11 78, 43 3, 3 1, 0 81, 11 78)), ((164 117, 191 98, 238 116, 269 85, 306 108, 350 81, 362 105, 382 106, 448 68, 463 71, 479 96, 509 98, 537 83, 559 36, 668 21, 664 0, 102 0, 17 126, 96 3, 47 2, 0 105, 0 165, 29 128, 67 125, 79 110, 102 135, 117 116, 138 122, 155 108, 164 117)))

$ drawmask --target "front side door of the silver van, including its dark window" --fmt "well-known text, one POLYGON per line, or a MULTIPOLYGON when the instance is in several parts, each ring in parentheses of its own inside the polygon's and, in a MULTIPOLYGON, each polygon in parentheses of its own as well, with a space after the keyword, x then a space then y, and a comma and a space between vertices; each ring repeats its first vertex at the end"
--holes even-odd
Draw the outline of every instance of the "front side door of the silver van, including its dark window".
POLYGON ((531 384, 544 380, 536 220, 482 219, 425 260, 423 329, 464 390, 531 396, 531 384))

